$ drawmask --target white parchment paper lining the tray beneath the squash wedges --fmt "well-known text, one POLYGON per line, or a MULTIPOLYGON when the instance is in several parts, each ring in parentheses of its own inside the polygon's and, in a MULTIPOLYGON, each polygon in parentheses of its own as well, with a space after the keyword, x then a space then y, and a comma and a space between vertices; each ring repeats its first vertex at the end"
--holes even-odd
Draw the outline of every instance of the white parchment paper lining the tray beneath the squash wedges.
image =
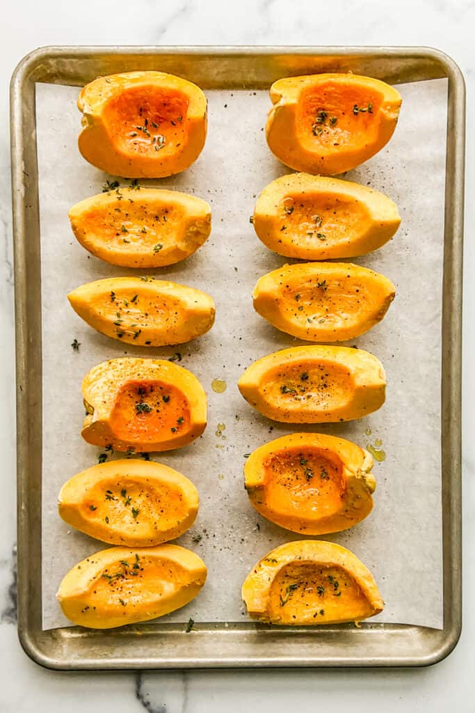
POLYGON ((54 596, 63 575, 78 560, 107 546, 70 530, 56 512, 63 482, 97 462, 100 453, 80 438, 80 381, 103 359, 125 353, 166 357, 178 351, 181 364, 207 390, 209 426, 191 446, 154 457, 197 485, 197 521, 177 542, 202 556, 209 576, 196 600, 160 621, 246 620, 240 588, 247 572, 273 546, 299 536, 268 523, 251 507, 243 488, 243 456, 298 429, 339 434, 362 446, 382 441, 386 458, 375 463, 374 511, 355 528, 321 539, 347 546, 372 570, 386 607, 371 621, 442 627, 439 414, 447 81, 399 88, 404 103, 395 136, 379 155, 346 175, 390 195, 402 215, 402 226, 389 245, 355 260, 383 272, 397 286, 382 324, 353 342, 385 366, 387 401, 360 421, 295 427, 263 419, 236 387, 254 359, 301 343, 266 324, 251 303, 256 280, 286 262, 261 245, 249 224, 260 190, 288 173, 266 148, 261 130, 269 107, 267 93, 207 92, 209 138, 199 160, 182 175, 142 182, 196 193, 212 205, 213 231, 207 244, 185 262, 155 275, 204 289, 216 302, 216 324, 209 334, 182 347, 145 350, 96 334, 68 306, 66 294, 78 284, 137 273, 89 256, 75 241, 68 208, 99 192, 110 177, 89 166, 76 148, 77 89, 37 86, 45 629, 68 625, 54 596), (80 342, 79 352, 71 348, 73 339, 80 342), (226 381, 223 394, 212 391, 213 379, 226 381), (218 424, 226 428, 218 429, 218 424), (195 543, 198 534, 202 539, 195 543))

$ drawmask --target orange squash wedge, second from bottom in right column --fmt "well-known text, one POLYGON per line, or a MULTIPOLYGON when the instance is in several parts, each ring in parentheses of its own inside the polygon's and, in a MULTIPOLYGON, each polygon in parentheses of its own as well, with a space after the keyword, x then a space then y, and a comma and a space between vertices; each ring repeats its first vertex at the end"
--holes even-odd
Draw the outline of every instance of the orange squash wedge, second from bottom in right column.
POLYGON ((356 525, 372 510, 370 453, 344 438, 291 434, 257 448, 244 466, 258 513, 287 530, 325 535, 356 525))

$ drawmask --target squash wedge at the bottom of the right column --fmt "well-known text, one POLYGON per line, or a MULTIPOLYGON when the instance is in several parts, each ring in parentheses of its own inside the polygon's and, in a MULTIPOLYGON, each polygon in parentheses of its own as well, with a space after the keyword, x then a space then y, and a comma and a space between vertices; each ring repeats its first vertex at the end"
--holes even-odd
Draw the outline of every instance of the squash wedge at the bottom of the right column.
POLYGON ((254 619, 296 626, 357 623, 384 607, 370 570, 350 550, 320 540, 271 550, 247 576, 242 598, 254 619))

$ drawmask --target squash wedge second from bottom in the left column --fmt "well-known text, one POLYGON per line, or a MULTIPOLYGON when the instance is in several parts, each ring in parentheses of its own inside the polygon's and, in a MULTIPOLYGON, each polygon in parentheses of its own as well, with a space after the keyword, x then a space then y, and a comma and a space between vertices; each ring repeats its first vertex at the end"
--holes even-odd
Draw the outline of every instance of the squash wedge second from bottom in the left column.
POLYGON ((192 481, 162 463, 138 459, 92 466, 70 478, 58 496, 59 515, 68 525, 127 547, 178 538, 194 523, 198 507, 192 481))

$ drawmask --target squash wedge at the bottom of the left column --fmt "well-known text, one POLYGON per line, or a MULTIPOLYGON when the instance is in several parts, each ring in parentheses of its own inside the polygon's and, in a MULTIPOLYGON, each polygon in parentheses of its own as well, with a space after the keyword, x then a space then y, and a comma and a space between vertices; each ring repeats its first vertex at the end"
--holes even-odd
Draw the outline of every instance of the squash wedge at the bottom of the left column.
POLYGON ((112 547, 75 565, 56 597, 73 624, 111 629, 174 612, 206 578, 203 560, 178 545, 112 547))

